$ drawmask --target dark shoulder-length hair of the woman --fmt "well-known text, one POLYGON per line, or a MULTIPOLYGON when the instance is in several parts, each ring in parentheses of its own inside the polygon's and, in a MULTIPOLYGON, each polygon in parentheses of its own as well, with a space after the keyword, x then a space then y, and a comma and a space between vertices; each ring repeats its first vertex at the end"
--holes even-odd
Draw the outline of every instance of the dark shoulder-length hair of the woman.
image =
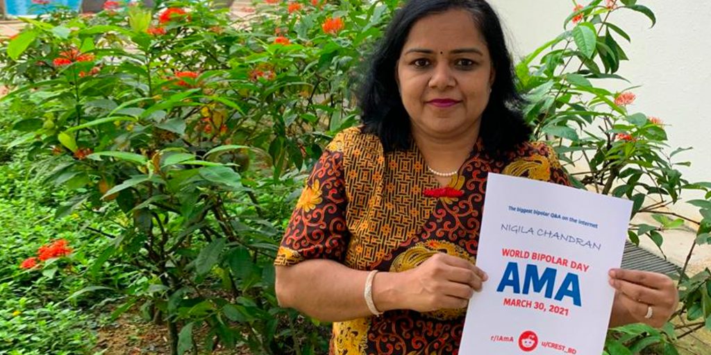
POLYGON ((523 99, 515 89, 513 63, 501 22, 491 6, 484 0, 410 0, 395 13, 385 36, 376 45, 358 92, 363 132, 378 136, 385 152, 405 150, 412 143, 410 119, 395 81, 395 65, 407 35, 420 18, 450 9, 471 13, 486 40, 496 70, 479 131, 486 151, 495 155, 504 153, 528 140, 531 134, 520 111, 523 99))

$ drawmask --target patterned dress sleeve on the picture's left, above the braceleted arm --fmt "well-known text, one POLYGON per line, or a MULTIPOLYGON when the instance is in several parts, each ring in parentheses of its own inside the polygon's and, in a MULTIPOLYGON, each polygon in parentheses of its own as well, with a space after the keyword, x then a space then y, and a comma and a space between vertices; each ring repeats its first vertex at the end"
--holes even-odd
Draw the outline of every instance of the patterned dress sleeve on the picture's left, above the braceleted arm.
POLYGON ((343 152, 331 145, 306 180, 274 265, 292 266, 315 258, 342 262, 350 240, 347 205, 343 152))

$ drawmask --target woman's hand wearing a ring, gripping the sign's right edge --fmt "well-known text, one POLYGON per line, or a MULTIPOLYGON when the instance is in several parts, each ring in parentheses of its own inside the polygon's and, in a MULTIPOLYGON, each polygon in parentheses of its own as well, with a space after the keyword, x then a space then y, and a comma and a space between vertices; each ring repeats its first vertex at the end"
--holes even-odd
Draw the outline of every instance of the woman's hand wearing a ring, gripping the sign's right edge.
POLYGON ((641 322, 659 328, 676 310, 678 291, 667 275, 622 269, 612 269, 609 275, 616 290, 612 325, 641 322))

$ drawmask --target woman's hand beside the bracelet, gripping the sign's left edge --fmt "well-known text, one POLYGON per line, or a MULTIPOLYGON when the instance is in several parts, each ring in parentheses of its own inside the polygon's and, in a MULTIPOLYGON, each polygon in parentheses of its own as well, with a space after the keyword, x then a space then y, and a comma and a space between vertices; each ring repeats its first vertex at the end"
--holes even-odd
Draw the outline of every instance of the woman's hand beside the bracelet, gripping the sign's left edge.
POLYGON ((405 307, 417 312, 459 309, 469 304, 488 275, 469 261, 437 253, 402 274, 405 307))

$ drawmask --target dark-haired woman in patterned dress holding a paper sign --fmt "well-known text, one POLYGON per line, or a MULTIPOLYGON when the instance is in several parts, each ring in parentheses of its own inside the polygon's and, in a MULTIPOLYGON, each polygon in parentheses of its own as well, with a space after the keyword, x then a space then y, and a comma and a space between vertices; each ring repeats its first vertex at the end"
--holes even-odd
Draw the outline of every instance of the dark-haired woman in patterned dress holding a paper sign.
MULTIPOLYGON (((474 265, 487 174, 568 184, 552 150, 527 141, 512 72, 486 1, 410 0, 395 14, 363 126, 328 145, 275 261, 279 302, 334 322, 331 354, 456 354, 487 280, 474 265)), ((668 319, 669 278, 610 275, 611 326, 668 319)))

